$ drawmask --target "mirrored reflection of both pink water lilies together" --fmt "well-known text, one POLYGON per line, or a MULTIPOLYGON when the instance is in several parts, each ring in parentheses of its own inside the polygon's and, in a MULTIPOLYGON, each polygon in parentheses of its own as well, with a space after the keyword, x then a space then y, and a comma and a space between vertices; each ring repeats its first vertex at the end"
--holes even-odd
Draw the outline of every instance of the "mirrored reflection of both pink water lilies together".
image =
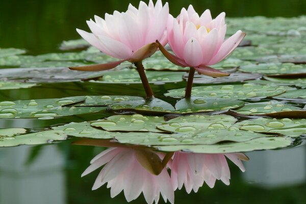
POLYGON ((82 176, 105 165, 92 190, 108 183, 111 197, 123 190, 127 201, 136 199, 142 192, 147 203, 158 203, 160 194, 165 202, 168 199, 173 203, 174 190, 182 189, 183 185, 188 193, 192 189, 197 192, 204 182, 211 188, 216 180, 229 185, 230 169, 225 157, 242 171, 245 169, 241 160, 248 160, 243 154, 194 154, 177 151, 172 155, 129 147, 112 147, 94 157, 82 176), (171 170, 171 176, 168 170, 171 170))

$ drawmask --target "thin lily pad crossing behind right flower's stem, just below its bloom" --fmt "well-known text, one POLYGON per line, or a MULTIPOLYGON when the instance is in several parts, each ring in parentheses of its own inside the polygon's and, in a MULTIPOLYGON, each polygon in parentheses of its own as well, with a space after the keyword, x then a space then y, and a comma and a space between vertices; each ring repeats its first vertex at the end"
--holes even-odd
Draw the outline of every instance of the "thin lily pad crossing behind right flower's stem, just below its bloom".
MULTIPOLYGON (((195 74, 193 84, 221 84, 221 83, 233 83, 233 82, 244 82, 248 80, 259 79, 262 74, 258 73, 231 73, 228 77, 212 78, 203 74, 195 74)), ((184 80, 187 81, 188 74, 184 75, 184 80)))

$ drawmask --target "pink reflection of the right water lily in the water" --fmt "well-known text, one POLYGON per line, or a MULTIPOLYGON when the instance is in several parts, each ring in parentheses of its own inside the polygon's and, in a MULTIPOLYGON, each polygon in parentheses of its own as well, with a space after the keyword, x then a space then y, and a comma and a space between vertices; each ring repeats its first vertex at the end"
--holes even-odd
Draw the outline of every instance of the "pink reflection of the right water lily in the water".
POLYGON ((213 188, 216 180, 230 185, 230 169, 225 156, 233 161, 241 171, 245 171, 240 159, 247 160, 243 154, 194 154, 175 152, 171 163, 171 182, 175 189, 183 185, 188 193, 197 192, 204 182, 213 188))

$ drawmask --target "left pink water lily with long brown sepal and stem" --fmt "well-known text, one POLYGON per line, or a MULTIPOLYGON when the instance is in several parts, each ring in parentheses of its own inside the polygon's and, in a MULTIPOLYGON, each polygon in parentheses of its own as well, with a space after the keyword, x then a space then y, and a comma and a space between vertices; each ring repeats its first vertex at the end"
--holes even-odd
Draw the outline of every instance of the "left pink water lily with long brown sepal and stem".
POLYGON ((141 62, 156 52, 156 40, 162 45, 167 44, 166 24, 169 17, 168 3, 163 6, 161 0, 157 0, 155 6, 152 0, 148 5, 141 1, 138 9, 130 4, 126 12, 114 11, 113 15, 105 14, 105 19, 94 16, 95 21, 87 21, 92 33, 79 29, 77 32, 101 52, 120 60, 69 68, 81 71, 108 70, 130 61, 137 67, 147 96, 152 97, 141 62))

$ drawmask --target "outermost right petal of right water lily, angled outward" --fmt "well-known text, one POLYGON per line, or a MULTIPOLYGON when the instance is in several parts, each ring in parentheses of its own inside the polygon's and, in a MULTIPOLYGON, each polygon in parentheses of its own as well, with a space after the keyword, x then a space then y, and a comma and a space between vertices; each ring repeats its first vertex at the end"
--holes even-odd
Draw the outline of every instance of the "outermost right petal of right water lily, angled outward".
POLYGON ((218 53, 207 65, 216 64, 228 55, 230 55, 233 50, 239 45, 245 35, 246 33, 243 33, 242 31, 237 31, 237 33, 232 35, 230 38, 227 38, 221 45, 218 53))

